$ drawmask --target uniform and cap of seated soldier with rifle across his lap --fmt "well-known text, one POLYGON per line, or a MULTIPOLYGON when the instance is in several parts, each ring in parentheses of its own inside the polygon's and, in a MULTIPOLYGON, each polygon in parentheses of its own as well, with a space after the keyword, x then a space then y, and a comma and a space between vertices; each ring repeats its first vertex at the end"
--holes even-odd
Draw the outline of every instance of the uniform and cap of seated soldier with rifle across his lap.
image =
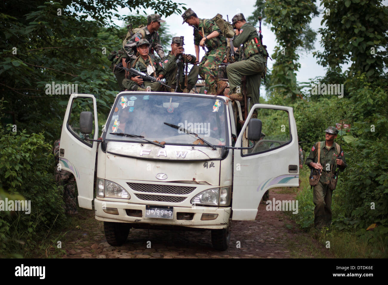
MULTIPOLYGON (((144 44, 149 45, 148 41, 145 39, 142 39, 142 40, 137 42, 138 47, 140 45, 144 45, 144 44)), ((137 69, 145 74, 148 74, 148 72, 147 72, 148 66, 152 66, 153 67, 152 69, 154 70, 153 73, 149 74, 150 76, 154 76, 155 78, 159 75, 165 76, 165 71, 163 69, 162 62, 159 59, 159 57, 157 57, 155 55, 148 54, 148 58, 145 60, 139 55, 136 59, 132 60, 130 67, 137 69)), ((147 81, 145 79, 143 79, 143 81, 144 81, 143 84, 145 87, 147 87, 147 86, 151 87, 151 91, 160 91, 161 90, 161 85, 158 82, 147 81)), ((139 88, 140 88, 140 85, 137 84, 135 81, 132 81, 131 79, 124 79, 123 86, 130 91, 136 91, 136 90, 139 90, 139 88)), ((142 91, 144 91, 144 90, 142 90, 142 91)))

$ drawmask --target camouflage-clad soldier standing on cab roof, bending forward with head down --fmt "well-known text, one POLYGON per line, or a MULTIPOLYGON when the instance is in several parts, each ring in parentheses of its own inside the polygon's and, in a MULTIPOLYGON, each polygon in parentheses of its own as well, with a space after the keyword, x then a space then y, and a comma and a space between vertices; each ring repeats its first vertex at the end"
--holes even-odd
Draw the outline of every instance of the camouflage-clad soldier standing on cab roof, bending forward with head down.
POLYGON ((196 57, 199 58, 199 46, 208 48, 208 53, 199 63, 199 75, 204 78, 208 94, 220 95, 227 87, 227 83, 218 78, 218 66, 226 54, 226 38, 222 35, 221 29, 211 19, 200 19, 191 9, 183 14, 183 23, 194 26, 194 47, 196 57))

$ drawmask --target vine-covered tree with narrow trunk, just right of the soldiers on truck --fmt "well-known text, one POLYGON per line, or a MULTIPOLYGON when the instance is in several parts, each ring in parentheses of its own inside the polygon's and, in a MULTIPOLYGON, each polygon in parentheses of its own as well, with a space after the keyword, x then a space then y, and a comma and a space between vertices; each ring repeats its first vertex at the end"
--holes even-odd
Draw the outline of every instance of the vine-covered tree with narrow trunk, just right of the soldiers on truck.
POLYGON ((316 33, 309 24, 312 17, 318 15, 317 7, 314 2, 298 0, 257 0, 255 7, 253 16, 248 20, 257 24, 258 17, 262 15, 263 20, 271 25, 278 42, 272 55, 275 60, 271 73, 274 94, 295 100, 301 93, 295 74, 300 67, 298 50, 313 48, 316 33))

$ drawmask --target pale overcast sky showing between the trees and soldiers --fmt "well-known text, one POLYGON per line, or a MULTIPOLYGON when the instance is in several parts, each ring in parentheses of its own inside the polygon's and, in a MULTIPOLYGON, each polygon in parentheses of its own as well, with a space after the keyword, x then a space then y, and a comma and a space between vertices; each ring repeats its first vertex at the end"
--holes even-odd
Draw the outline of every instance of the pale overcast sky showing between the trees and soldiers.
MULTIPOLYGON (((236 7, 236 1, 232 0, 196 0, 196 1, 177 1, 177 2, 186 2, 190 3, 188 5, 185 5, 187 8, 191 8, 196 12, 198 17, 210 19, 214 17, 217 13, 222 14, 223 18, 226 19, 227 15, 229 15, 229 21, 231 21, 232 17, 237 13, 242 13, 247 18, 252 15, 253 11, 255 10, 255 0, 240 0, 238 3, 240 4, 238 7, 236 7)), ((388 1, 383 1, 383 3, 386 4, 388 1)), ((319 5, 319 2, 316 2, 316 5, 319 5)), ((319 10, 323 10, 322 7, 319 7, 319 10)), ((123 15, 129 14, 129 9, 119 9, 119 12, 123 15)), ((153 11, 151 9, 148 9, 147 14, 152 14, 153 11)), ((318 31, 319 28, 322 26, 320 25, 320 22, 322 21, 323 12, 320 13, 320 16, 314 17, 312 19, 312 22, 310 24, 311 28, 314 31, 318 31)), ((162 19, 166 20, 163 24, 168 24, 169 33, 173 36, 184 36, 185 37, 185 53, 187 54, 194 54, 194 39, 193 39, 193 28, 189 27, 188 24, 182 25, 182 17, 180 15, 173 14, 168 17, 162 17, 162 19)), ((124 22, 116 22, 116 24, 120 26, 124 26, 124 22)), ((274 53, 274 48, 276 43, 276 37, 275 34, 272 33, 270 30, 270 26, 268 26, 266 23, 262 22, 262 35, 263 35, 263 44, 267 45, 267 50, 270 55, 274 53)), ((317 40, 315 41, 315 50, 323 51, 323 49, 320 47, 320 35, 317 35, 317 40)), ((314 52, 313 50, 312 52, 314 52)), ((299 71, 296 73, 296 80, 298 82, 308 82, 310 78, 314 78, 316 76, 324 76, 326 73, 326 70, 324 67, 317 64, 317 60, 313 57, 312 52, 306 53, 306 52, 300 52, 300 59, 299 63, 301 64, 301 67, 299 71)), ((165 54, 167 54, 167 51, 165 51, 165 54)), ((200 48, 200 59, 204 55, 203 50, 200 48)), ((268 68, 272 69, 272 64, 274 62, 268 59, 268 68)), ((343 69, 348 68, 350 64, 347 64, 345 66, 342 66, 343 69)), ((260 87, 260 96, 265 96, 265 89, 262 85, 260 87)))

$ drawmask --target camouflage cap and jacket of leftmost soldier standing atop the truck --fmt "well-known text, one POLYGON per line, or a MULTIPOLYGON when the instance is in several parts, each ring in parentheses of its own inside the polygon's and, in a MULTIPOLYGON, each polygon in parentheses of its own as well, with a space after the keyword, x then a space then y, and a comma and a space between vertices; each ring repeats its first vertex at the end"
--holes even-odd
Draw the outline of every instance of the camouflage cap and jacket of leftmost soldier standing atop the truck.
MULTIPOLYGON (((166 22, 166 21, 160 19, 160 16, 158 14, 148 15, 147 21, 148 22, 151 22, 151 21, 152 22, 162 22, 162 23, 166 22)), ((159 36, 158 31, 154 31, 153 33, 150 33, 150 31, 147 29, 147 26, 145 26, 143 28, 142 32, 138 31, 137 33, 135 33, 132 36, 132 38, 130 38, 128 40, 128 42, 126 43, 126 45, 124 47, 125 52, 128 55, 129 60, 136 59, 136 53, 134 50, 136 47, 136 43, 143 38, 143 34, 144 34, 144 38, 150 43, 149 53, 153 54, 153 51, 152 51, 152 49, 153 49, 156 51, 156 53, 159 55, 159 57, 161 59, 163 59, 163 57, 165 57, 165 52, 163 51, 163 47, 162 47, 162 43, 160 41, 160 36, 159 36)))

